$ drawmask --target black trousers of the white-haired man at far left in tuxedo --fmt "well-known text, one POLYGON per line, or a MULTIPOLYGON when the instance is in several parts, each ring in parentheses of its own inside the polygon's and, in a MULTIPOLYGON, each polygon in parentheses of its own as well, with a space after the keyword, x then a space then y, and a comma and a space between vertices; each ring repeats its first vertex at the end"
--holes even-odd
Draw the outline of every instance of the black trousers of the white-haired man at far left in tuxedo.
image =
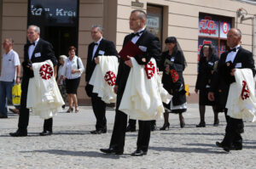
MULTIPOLYGON (((21 84, 21 98, 20 98, 20 116, 18 127, 20 131, 26 130, 29 121, 29 109, 26 109, 26 98, 27 98, 27 87, 28 81, 23 79, 24 82, 21 84)), ((44 131, 52 132, 53 119, 49 118, 44 120, 44 131)))

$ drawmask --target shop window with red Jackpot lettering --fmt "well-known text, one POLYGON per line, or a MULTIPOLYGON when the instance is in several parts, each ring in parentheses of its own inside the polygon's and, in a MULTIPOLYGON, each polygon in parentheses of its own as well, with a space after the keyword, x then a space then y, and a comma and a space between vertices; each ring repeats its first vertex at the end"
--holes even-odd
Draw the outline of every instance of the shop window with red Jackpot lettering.
POLYGON ((226 38, 231 28, 232 18, 213 15, 199 14, 198 25, 198 60, 202 45, 210 43, 215 48, 215 54, 220 56, 227 49, 226 38))

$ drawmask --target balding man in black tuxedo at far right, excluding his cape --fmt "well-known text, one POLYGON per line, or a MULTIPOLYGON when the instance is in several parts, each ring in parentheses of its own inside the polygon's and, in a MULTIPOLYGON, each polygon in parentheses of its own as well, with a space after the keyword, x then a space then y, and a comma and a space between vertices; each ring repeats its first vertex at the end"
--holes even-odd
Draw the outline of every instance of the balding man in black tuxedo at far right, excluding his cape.
MULTIPOLYGON (((255 66, 253 54, 244 48, 241 48, 241 31, 235 28, 230 29, 227 35, 227 45, 230 50, 221 54, 218 61, 217 72, 212 77, 212 84, 208 99, 214 100, 214 96, 218 93, 219 98, 223 100, 221 103, 225 105, 228 99, 230 84, 236 82, 235 71, 236 69, 249 68, 253 70, 255 75, 255 66)), ((225 136, 221 143, 217 142, 216 145, 225 151, 229 152, 231 149, 242 149, 241 133, 243 130, 243 121, 235 119, 227 115, 228 110, 224 110, 226 115, 227 127, 225 136)))

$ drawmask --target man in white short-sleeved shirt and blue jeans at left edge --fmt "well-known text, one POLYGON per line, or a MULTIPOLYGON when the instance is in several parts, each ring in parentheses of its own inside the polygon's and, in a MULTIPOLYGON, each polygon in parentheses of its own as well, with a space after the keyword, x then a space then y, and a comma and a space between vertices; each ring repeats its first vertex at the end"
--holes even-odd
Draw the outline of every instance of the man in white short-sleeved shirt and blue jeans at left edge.
MULTIPOLYGON (((0 72, 0 118, 8 118, 8 100, 12 100, 12 87, 20 83, 20 59, 13 50, 14 40, 6 38, 3 41, 2 67, 0 72)), ((16 107, 18 108, 18 107, 16 107)), ((15 112, 18 112, 16 109, 15 112)))

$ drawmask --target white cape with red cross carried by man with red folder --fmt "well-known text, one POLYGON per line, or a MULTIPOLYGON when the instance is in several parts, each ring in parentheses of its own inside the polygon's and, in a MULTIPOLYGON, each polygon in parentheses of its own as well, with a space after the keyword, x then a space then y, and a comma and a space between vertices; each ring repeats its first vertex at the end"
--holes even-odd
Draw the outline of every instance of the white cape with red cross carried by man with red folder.
POLYGON ((131 58, 131 61, 133 67, 119 110, 130 115, 131 119, 160 119, 165 111, 162 102, 169 103, 172 96, 162 87, 155 59, 151 59, 145 66, 138 65, 134 58, 131 58))

